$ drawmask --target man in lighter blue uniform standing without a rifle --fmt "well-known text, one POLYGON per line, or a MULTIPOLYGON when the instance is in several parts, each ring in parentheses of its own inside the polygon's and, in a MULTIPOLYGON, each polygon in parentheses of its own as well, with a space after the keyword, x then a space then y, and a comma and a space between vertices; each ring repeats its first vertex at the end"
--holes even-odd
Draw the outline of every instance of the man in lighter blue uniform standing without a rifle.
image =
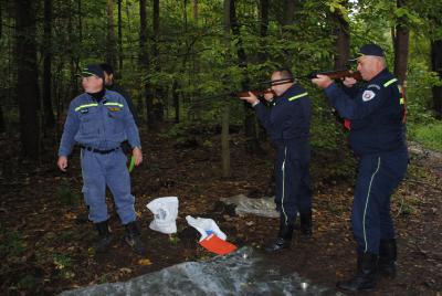
POLYGON ((106 252, 112 242, 105 198, 107 186, 127 231, 125 241, 135 252, 145 254, 146 250, 136 224, 135 198, 130 194, 127 159, 120 148, 120 144, 128 140, 135 165, 141 163, 137 126, 124 97, 104 88, 104 74, 98 65, 88 65, 82 72, 82 76, 85 93, 71 102, 60 144, 57 166, 65 171, 67 156, 74 145, 81 146, 84 199, 90 209, 90 220, 98 231, 96 251, 106 252))

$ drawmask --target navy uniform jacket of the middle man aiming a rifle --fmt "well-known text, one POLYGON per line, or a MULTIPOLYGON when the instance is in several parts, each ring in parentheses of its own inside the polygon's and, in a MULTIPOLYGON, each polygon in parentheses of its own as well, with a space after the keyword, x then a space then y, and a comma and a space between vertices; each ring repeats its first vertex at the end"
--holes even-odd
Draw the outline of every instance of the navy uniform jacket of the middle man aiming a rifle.
POLYGON ((312 103, 307 92, 299 85, 294 84, 284 94, 274 98, 270 109, 263 104, 257 104, 255 109, 274 144, 293 139, 308 140, 312 103))

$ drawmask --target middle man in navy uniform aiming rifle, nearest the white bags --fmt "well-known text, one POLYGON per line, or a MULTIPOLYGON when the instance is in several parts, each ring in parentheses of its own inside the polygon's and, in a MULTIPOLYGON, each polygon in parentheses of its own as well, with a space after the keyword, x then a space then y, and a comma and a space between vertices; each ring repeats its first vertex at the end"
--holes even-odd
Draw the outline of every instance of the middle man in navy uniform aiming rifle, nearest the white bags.
POLYGON ((242 99, 252 104, 261 124, 276 146, 276 210, 280 212, 280 231, 265 250, 276 252, 290 247, 297 213, 301 230, 312 235, 312 188, 309 176, 309 126, 312 103, 307 92, 294 83, 290 70, 272 74, 272 92, 265 94, 271 108, 260 103, 253 93, 242 99))

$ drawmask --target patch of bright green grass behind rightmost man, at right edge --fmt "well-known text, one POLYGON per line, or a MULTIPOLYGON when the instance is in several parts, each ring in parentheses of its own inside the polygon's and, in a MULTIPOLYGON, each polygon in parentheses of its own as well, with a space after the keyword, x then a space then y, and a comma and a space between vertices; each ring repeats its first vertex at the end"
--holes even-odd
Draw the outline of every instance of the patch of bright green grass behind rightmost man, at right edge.
POLYGON ((408 125, 409 138, 413 141, 422 144, 424 147, 442 151, 442 121, 433 121, 431 124, 408 125))

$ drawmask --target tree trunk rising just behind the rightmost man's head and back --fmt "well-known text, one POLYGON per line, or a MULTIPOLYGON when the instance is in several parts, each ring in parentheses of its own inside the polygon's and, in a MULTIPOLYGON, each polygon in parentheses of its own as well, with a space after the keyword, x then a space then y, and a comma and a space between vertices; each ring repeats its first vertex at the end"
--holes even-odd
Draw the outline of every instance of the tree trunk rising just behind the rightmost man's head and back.
MULTIPOLYGON (((397 0, 398 8, 406 6, 404 0, 397 0)), ((407 18, 402 17, 397 20, 394 42, 394 75, 399 80, 399 84, 404 86, 407 81, 408 52, 410 30, 407 27, 407 18)))

